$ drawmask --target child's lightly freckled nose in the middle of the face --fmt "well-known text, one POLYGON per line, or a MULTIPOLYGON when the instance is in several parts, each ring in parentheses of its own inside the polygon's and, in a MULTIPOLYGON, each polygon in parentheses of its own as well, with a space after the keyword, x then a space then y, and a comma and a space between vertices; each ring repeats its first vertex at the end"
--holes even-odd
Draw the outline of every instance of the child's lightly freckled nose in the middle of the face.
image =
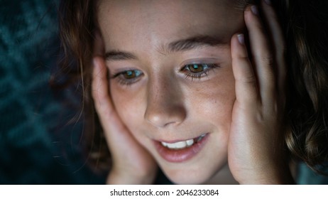
POLYGON ((163 78, 148 82, 148 100, 145 112, 147 122, 155 127, 178 125, 185 120, 183 95, 176 81, 163 78))

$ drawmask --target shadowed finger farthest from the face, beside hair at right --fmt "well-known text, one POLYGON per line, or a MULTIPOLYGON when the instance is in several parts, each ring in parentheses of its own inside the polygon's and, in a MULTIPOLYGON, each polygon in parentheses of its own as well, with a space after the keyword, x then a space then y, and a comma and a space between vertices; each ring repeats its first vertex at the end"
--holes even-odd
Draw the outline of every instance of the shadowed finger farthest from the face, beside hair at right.
POLYGON ((285 66, 285 39, 283 36, 283 31, 280 28, 278 22, 278 16, 270 3, 266 0, 262 2, 263 13, 266 18, 266 24, 268 24, 268 29, 271 33, 273 45, 275 48, 275 60, 277 63, 276 74, 278 81, 278 92, 279 95, 285 94, 285 78, 286 78, 286 66, 285 66))

